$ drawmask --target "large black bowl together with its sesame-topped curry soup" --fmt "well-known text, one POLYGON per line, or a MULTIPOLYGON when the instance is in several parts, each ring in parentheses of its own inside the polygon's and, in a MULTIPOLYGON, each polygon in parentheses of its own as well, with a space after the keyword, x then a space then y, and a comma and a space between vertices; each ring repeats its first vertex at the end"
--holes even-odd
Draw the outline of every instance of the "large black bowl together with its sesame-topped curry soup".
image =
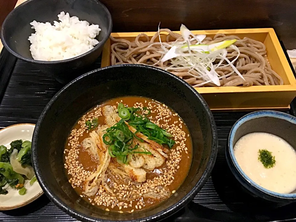
POLYGON ((194 198, 216 154, 215 121, 199 93, 169 72, 134 64, 97 69, 66 85, 43 110, 32 140, 44 192, 82 221, 162 220, 194 198), (125 141, 128 154, 114 148, 129 138, 118 130, 133 135, 125 141), (163 134, 148 138, 145 130, 163 134), (108 132, 111 145, 103 139, 108 132))

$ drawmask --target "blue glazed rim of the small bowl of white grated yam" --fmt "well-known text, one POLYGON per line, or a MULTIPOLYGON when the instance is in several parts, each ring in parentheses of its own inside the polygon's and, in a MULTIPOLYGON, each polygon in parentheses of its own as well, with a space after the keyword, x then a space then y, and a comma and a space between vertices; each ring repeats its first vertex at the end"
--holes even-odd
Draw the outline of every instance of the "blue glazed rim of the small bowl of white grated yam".
MULTIPOLYGON (((257 119, 257 118, 262 118, 262 117, 273 117, 273 118, 278 118, 278 119, 282 119, 283 121, 288 121, 290 123, 296 124, 296 118, 288 113, 283 113, 280 111, 274 111, 274 110, 259 110, 259 111, 255 111, 252 113, 248 113, 246 115, 244 115, 243 117, 239 118, 232 126, 228 137, 227 137, 227 143, 226 143, 226 156, 228 156, 227 158, 227 163, 228 166, 231 167, 232 169, 234 169, 234 171, 236 173, 238 173, 238 175, 240 175, 240 177, 243 179, 244 183, 242 183, 240 180, 238 180, 246 189, 248 189, 248 186, 254 188, 256 191, 259 191, 260 193, 270 196, 272 198, 276 198, 279 200, 294 200, 296 199, 296 195, 293 194, 282 194, 282 193, 277 193, 274 191, 269 191, 264 187, 261 187, 260 185, 258 185, 257 183, 255 183, 252 179, 249 178, 248 175, 246 175, 246 173, 241 169, 241 167, 238 165, 236 158, 234 156, 234 154, 231 153, 231 148, 230 148, 230 141, 231 141, 231 137, 234 137, 234 135, 236 134, 236 130, 239 128, 239 126, 249 120, 252 119, 257 119)), ((231 171, 232 172, 232 171, 231 171)), ((234 174, 232 172, 232 174, 234 174)), ((234 175, 235 176, 235 175, 234 175)), ((248 189, 249 190, 249 189, 248 189)), ((250 190, 249 190, 250 191, 250 190)), ((257 195, 256 193, 254 193, 253 191, 250 191, 253 194, 257 195)))

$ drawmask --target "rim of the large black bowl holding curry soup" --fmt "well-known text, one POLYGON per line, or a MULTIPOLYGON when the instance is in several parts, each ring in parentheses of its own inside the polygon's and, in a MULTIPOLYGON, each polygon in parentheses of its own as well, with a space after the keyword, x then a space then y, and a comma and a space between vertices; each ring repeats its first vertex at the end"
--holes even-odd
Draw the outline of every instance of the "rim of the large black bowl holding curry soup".
POLYGON ((150 66, 146 66, 146 65, 140 65, 140 64, 120 64, 120 65, 113 65, 113 66, 107 66, 104 68, 99 68, 96 70, 93 70, 91 72, 88 72, 78 78, 76 78, 75 80, 73 80, 72 82, 70 82, 69 84, 67 84, 66 86, 64 86, 59 92, 57 92, 55 94, 55 96, 48 102, 48 104, 46 105, 46 107, 44 108, 43 112, 41 113, 37 124, 35 126, 35 130, 33 133, 33 138, 32 138, 32 164, 34 167, 34 171, 36 174, 36 177, 38 179, 38 182, 40 184, 40 186, 42 187, 44 193, 47 195, 47 197, 56 205, 58 206, 62 211, 64 211, 65 213, 69 214, 70 216, 81 220, 81 221, 91 221, 91 222, 97 222, 97 221, 102 221, 102 222, 113 222, 113 220, 103 220, 100 218, 95 218, 92 216, 88 216, 82 213, 77 213, 75 211, 75 209, 68 207, 66 204, 63 203, 63 201, 61 199, 59 199, 58 197, 55 196, 54 192, 48 187, 48 185, 43 181, 43 177, 40 174, 40 169, 39 169, 39 164, 38 164, 38 160, 37 160, 37 148, 36 148, 36 141, 38 139, 38 134, 39 134, 39 129, 40 126, 43 122, 44 117, 46 116, 48 110, 51 108, 52 104, 58 99, 58 97, 60 97, 60 95, 68 90, 68 87, 72 84, 75 84, 76 82, 80 81, 81 79, 83 79, 85 76, 91 75, 92 73, 96 73, 99 72, 100 70, 105 70, 105 69, 109 69, 109 68, 122 68, 122 67, 142 67, 142 68, 146 68, 146 69, 150 69, 150 70, 157 70, 158 72, 163 72, 165 73, 169 78, 174 78, 175 80, 179 81, 180 84, 185 85, 189 90, 191 90, 191 92, 193 92, 195 94, 196 97, 199 98, 199 100, 202 102, 202 104, 205 107, 206 113, 209 116, 210 119, 210 124, 211 124, 211 128, 212 128, 212 151, 211 151, 211 155, 209 157, 209 162, 208 165, 206 167, 206 170, 204 171, 202 177, 199 179, 199 181, 195 184, 195 186, 191 189, 190 192, 187 193, 187 195, 185 195, 183 197, 183 199, 181 199, 178 203, 172 205, 171 207, 158 212, 155 215, 149 216, 149 217, 144 217, 144 218, 140 218, 140 219, 134 219, 134 220, 125 220, 125 221, 129 221, 129 222, 144 222, 144 221, 157 221, 157 220, 162 220, 170 215, 172 215, 173 213, 179 211, 181 208, 183 208, 186 204, 188 204, 194 197, 195 195, 200 191, 200 189, 204 186, 206 180, 208 179, 215 161, 216 161, 216 156, 217 156, 217 151, 218 151, 218 135, 217 135, 217 128, 216 128, 216 123, 214 120, 214 117, 212 115, 211 110, 209 109, 206 101, 204 100, 204 98, 193 88, 191 87, 187 82, 185 82, 184 80, 180 79, 178 76, 175 76, 174 74, 171 74, 170 72, 164 71, 162 69, 159 68, 155 68, 155 67, 150 67, 150 66))

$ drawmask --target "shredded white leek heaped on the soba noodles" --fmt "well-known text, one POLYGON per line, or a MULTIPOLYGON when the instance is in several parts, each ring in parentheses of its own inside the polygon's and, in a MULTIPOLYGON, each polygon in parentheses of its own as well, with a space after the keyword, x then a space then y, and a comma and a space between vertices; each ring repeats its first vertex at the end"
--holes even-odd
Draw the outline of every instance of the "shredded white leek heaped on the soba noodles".
POLYGON ((233 43, 236 42, 236 39, 207 45, 202 44, 206 35, 194 35, 183 24, 180 27, 180 32, 183 41, 179 42, 179 39, 176 39, 176 41, 172 44, 165 44, 160 40, 158 26, 158 36, 160 40, 160 43, 158 44, 161 44, 161 48, 163 50, 158 51, 158 53, 163 54, 160 62, 163 63, 170 60, 171 63, 171 66, 166 68, 167 71, 189 69, 189 75, 205 81, 194 85, 194 87, 202 86, 209 82, 220 86, 220 79, 226 76, 218 75, 215 70, 219 67, 230 66, 233 69, 233 72, 229 73, 227 76, 230 76, 235 72, 243 80, 245 80, 241 73, 233 65, 240 55, 239 49, 233 45, 233 43), (197 43, 191 44, 194 40, 196 40, 197 43), (232 61, 226 58, 227 50, 225 48, 227 47, 231 47, 237 52, 236 58, 232 61), (217 60, 219 60, 218 64, 215 63, 217 60), (227 64, 222 64, 224 61, 227 64))

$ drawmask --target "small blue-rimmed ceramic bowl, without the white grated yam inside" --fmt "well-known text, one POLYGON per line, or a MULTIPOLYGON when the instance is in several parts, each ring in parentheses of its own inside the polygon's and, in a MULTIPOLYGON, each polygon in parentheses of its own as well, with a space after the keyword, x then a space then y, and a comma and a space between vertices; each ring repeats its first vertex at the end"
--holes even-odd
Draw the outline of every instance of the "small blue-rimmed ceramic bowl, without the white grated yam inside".
POLYGON ((277 203, 296 202, 296 191, 289 194, 269 191, 253 182, 236 161, 233 147, 244 135, 254 132, 274 134, 296 148, 296 117, 276 111, 257 111, 239 119, 232 127, 226 146, 226 160, 236 179, 254 197, 277 203))

